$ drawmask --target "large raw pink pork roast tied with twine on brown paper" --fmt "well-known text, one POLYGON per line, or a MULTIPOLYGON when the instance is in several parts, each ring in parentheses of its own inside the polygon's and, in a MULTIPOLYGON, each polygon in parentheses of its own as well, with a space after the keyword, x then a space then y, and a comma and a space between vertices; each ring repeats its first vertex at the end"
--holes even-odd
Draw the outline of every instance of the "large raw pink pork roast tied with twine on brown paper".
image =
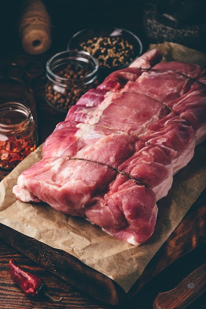
POLYGON ((153 49, 72 106, 13 188, 138 246, 173 175, 206 138, 206 70, 153 49))

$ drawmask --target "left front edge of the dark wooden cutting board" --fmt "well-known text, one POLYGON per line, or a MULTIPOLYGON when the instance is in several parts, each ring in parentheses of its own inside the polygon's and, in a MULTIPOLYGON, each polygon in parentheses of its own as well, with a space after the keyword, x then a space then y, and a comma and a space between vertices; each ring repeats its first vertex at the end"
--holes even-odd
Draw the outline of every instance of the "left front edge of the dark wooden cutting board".
POLYGON ((69 253, 0 224, 0 237, 39 266, 93 298, 119 305, 127 293, 112 279, 85 265, 69 253))

